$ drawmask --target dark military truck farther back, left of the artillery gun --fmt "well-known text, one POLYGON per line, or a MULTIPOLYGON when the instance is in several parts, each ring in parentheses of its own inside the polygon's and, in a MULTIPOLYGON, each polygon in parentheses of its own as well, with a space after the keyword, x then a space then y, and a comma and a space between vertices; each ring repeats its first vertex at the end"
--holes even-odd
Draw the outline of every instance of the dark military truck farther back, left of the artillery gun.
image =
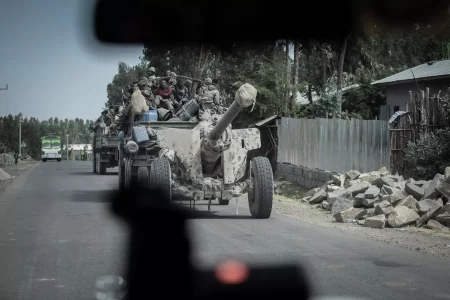
POLYGON ((94 129, 92 142, 92 170, 105 174, 107 168, 118 166, 118 137, 114 131, 99 124, 94 129))

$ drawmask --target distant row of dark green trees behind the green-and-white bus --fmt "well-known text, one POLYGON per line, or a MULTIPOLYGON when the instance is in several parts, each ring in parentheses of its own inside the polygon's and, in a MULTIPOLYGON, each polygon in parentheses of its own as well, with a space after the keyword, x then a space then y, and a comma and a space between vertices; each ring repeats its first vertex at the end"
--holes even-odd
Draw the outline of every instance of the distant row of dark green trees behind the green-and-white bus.
MULTIPOLYGON (((61 136, 63 144, 66 143, 66 134, 69 134, 71 144, 88 144, 91 141, 89 124, 90 121, 78 118, 75 120, 50 118, 44 121, 33 117, 24 118, 22 141, 28 146, 28 149, 24 150, 33 158, 38 158, 41 151, 41 137, 50 133, 61 136)), ((9 151, 19 151, 19 115, 0 117, 0 141, 9 151)))

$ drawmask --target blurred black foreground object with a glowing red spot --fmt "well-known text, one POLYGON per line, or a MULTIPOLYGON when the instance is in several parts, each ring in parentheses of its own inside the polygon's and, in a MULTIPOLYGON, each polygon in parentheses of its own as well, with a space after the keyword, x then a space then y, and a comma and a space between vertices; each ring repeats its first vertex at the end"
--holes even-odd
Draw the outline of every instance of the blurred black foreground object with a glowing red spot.
MULTIPOLYGON (((180 294, 183 300, 310 296, 305 274, 296 266, 253 268, 228 261, 214 270, 196 270, 191 264, 186 215, 159 191, 132 185, 113 196, 112 210, 130 229, 125 278, 129 300, 180 294)), ((120 285, 120 278, 116 281, 120 285)))

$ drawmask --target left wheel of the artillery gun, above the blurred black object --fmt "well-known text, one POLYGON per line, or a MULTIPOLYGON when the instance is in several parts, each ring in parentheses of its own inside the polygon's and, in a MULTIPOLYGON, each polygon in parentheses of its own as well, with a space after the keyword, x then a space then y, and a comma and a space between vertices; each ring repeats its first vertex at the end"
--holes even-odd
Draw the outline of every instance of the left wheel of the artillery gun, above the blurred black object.
POLYGON ((149 186, 160 189, 167 200, 172 200, 172 171, 167 158, 155 158, 150 164, 149 186))

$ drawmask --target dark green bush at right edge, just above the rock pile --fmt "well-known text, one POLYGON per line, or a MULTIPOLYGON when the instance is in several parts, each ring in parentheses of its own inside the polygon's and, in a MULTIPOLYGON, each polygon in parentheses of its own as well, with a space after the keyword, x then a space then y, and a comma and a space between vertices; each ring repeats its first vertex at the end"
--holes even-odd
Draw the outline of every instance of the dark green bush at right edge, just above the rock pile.
POLYGON ((432 179, 436 173, 443 174, 450 166, 450 128, 436 133, 424 134, 416 142, 410 142, 405 152, 411 176, 432 179))

